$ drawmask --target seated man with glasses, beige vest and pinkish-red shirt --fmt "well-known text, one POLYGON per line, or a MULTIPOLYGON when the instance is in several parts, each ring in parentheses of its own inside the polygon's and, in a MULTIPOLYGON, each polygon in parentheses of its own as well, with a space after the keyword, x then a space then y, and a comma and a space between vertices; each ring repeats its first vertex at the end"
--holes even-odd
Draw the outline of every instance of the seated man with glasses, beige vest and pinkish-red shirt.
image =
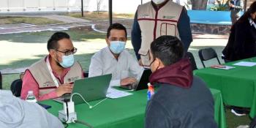
POLYGON ((21 99, 33 91, 38 101, 71 93, 74 82, 83 78, 83 69, 74 61, 77 48, 68 34, 56 32, 48 40, 49 55, 32 64, 23 77, 21 99))

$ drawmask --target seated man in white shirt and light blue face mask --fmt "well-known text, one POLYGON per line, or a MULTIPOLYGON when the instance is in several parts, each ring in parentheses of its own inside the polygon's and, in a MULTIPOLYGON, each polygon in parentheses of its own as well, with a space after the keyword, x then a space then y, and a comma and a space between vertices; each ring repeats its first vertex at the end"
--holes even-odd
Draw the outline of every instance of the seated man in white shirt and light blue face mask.
POLYGON ((110 86, 127 86, 140 79, 143 67, 127 50, 127 29, 120 23, 108 28, 106 37, 108 47, 95 53, 91 58, 89 77, 112 74, 110 86))

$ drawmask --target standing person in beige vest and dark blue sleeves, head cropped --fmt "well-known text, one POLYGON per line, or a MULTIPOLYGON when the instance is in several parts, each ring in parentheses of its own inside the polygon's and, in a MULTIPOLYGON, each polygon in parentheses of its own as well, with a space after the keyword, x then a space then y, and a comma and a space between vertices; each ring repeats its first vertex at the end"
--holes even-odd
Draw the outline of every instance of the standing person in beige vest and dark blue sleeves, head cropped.
POLYGON ((162 35, 181 39, 187 52, 192 32, 185 7, 170 0, 152 0, 140 5, 132 26, 132 46, 140 65, 149 66, 150 44, 162 35))

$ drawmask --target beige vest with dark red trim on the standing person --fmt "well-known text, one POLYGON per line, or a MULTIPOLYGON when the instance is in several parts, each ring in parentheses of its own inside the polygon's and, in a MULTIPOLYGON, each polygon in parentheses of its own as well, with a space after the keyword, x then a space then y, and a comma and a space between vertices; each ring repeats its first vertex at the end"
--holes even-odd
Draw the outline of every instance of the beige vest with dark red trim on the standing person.
POLYGON ((179 38, 177 23, 183 7, 167 1, 167 3, 154 10, 151 1, 138 7, 138 23, 141 30, 141 46, 139 54, 143 65, 149 66, 149 53, 151 42, 162 35, 172 35, 179 38))

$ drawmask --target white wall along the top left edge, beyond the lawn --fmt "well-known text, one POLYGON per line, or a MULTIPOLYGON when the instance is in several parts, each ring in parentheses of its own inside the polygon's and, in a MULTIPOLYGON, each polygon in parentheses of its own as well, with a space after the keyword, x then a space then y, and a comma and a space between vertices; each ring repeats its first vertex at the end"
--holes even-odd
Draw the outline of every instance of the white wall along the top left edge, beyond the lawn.
MULTIPOLYGON (((143 3, 151 0, 143 0, 143 3)), ((113 12, 134 13, 141 0, 113 0, 113 12)), ((85 11, 96 11, 97 0, 83 0, 85 11)), ((0 0, 1 12, 70 12, 80 11, 81 0, 0 0)), ((108 11, 108 0, 102 0, 100 10, 108 11)))

